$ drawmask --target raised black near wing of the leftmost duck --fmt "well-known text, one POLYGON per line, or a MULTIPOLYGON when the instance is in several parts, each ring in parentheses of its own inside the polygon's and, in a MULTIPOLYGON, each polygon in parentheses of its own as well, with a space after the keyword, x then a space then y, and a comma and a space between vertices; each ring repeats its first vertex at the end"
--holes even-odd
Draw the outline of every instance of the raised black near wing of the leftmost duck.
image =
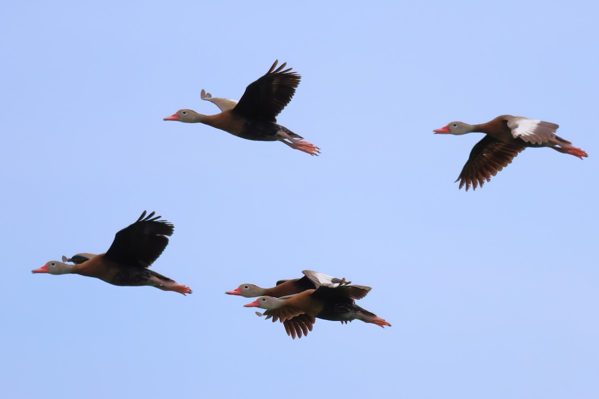
POLYGON ((150 266, 167 247, 167 236, 174 230, 173 224, 158 220, 161 216, 154 217, 154 213, 146 217, 144 211, 134 224, 116 233, 104 256, 123 266, 150 266))

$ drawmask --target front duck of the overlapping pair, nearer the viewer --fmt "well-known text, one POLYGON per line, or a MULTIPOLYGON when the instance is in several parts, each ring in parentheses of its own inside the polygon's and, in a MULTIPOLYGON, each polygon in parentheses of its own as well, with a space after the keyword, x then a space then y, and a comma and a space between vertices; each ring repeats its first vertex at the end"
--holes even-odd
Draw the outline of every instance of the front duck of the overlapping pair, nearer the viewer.
MULTIPOLYGON (((356 305, 355 300, 364 297, 370 287, 360 285, 340 285, 335 288, 321 286, 316 290, 306 290, 292 296, 273 298, 259 297, 246 307, 267 309, 264 315, 272 317, 273 322, 279 319, 284 325, 287 335, 295 339, 295 334, 308 334, 312 330, 314 318, 348 322, 355 319, 374 323, 385 327, 391 325, 374 313, 356 305)), ((261 313, 256 312, 261 315, 261 313)))

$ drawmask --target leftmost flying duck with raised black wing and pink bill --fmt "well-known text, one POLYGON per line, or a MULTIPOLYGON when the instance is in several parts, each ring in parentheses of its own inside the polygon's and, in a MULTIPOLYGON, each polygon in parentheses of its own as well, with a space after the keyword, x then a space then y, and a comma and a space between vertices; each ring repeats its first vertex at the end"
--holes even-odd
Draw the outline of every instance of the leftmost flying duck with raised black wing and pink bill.
MULTIPOLYGON (((148 269, 162 254, 168 244, 168 236, 174 230, 173 224, 158 220, 159 218, 161 217, 154 217, 154 212, 146 217, 144 211, 134 224, 116 233, 105 254, 77 254, 71 258, 75 264, 52 260, 31 272, 52 275, 74 273, 95 277, 114 285, 151 285, 164 291, 191 294, 189 287, 148 269), (89 255, 92 255, 91 258, 85 260, 89 255)), ((64 258, 63 260, 69 261, 64 258)))

